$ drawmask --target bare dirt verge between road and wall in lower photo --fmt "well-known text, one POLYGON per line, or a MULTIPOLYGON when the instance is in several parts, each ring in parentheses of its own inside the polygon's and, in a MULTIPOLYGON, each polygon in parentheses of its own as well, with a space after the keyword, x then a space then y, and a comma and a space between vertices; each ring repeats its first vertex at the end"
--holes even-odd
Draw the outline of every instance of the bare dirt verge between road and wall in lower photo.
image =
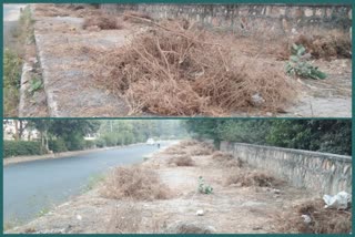
MULTIPOLYGON (((186 151, 194 148, 191 146, 186 151)), ((162 151, 140 165, 159 174, 161 182, 171 190, 169 199, 104 198, 102 183, 99 183, 89 193, 8 233, 181 233, 176 226, 182 224, 204 229, 200 233, 278 233, 283 214, 312 198, 305 189, 285 182, 270 187, 226 185, 225 178, 232 172, 254 169, 247 165, 231 169, 213 159, 212 155, 192 156, 194 166, 174 166, 169 159, 175 155, 162 151), (213 187, 212 194, 197 192, 200 176, 213 187), (204 214, 197 216, 196 212, 201 209, 204 214)))

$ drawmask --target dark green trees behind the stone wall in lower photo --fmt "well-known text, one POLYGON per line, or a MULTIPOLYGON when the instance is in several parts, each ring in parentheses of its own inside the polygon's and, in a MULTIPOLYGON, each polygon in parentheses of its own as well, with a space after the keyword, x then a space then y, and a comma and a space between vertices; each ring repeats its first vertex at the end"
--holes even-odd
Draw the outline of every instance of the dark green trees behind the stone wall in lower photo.
POLYGON ((189 120, 196 138, 352 155, 351 120, 189 120))

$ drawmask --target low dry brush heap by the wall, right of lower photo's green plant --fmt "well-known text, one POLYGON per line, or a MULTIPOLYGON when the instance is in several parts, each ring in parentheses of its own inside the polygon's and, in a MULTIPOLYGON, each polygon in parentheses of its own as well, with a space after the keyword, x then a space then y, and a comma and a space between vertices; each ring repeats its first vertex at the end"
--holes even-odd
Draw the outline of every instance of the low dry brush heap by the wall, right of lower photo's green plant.
POLYGON ((239 184, 241 186, 256 186, 256 187, 274 187, 280 184, 273 176, 262 172, 241 172, 236 169, 225 179, 226 185, 239 184))

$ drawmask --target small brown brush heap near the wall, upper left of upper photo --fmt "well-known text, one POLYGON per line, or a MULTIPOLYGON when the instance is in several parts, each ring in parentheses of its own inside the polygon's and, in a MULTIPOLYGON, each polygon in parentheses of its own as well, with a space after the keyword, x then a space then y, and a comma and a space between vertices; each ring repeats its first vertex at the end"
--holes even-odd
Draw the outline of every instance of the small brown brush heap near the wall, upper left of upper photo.
POLYGON ((83 29, 98 27, 101 30, 120 30, 123 25, 118 22, 118 19, 109 16, 91 16, 87 17, 83 23, 83 29))

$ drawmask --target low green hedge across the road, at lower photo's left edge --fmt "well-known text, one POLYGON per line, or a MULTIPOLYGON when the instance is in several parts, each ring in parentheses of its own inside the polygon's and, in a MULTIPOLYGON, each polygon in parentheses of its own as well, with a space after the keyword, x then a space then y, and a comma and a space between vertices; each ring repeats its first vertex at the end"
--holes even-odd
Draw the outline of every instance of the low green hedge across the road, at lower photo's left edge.
POLYGON ((42 154, 43 151, 39 142, 3 141, 3 157, 42 154))

